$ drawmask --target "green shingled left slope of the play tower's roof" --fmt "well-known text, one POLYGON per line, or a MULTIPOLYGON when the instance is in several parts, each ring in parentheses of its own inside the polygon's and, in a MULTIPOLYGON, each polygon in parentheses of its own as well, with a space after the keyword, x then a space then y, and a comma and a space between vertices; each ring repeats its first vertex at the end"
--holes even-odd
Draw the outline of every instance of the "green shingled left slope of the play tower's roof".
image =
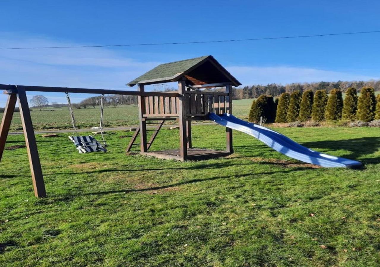
POLYGON ((133 86, 135 84, 141 83, 141 81, 163 82, 163 81, 169 81, 169 80, 175 79, 175 77, 184 73, 185 71, 190 69, 192 66, 195 66, 196 64, 206 59, 207 57, 211 57, 211 56, 206 55, 203 57, 190 58, 186 60, 180 60, 180 61, 169 62, 169 63, 158 65, 154 69, 148 71, 145 74, 142 74, 141 76, 137 77, 133 81, 128 82, 127 85, 133 86))

